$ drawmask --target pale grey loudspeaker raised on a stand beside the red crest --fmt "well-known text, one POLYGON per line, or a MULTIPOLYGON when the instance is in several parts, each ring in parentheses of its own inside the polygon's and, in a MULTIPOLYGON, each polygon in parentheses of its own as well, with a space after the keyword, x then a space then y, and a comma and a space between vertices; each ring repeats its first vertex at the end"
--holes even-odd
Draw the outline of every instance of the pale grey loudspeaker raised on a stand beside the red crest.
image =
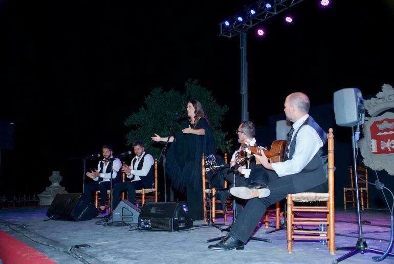
POLYGON ((357 88, 345 88, 334 93, 335 122, 339 126, 364 123, 364 100, 357 88))

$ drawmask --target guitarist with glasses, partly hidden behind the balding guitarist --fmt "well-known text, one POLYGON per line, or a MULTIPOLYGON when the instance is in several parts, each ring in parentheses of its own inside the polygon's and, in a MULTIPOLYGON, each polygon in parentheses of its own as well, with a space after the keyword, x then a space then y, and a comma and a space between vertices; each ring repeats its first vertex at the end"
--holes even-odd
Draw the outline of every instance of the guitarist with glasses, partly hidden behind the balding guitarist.
MULTIPOLYGON (((256 139, 254 138, 254 135, 256 133, 256 127, 251 121, 244 121, 240 123, 238 126, 238 129, 235 131, 236 134, 238 135, 238 142, 241 143, 242 141, 245 141, 247 144, 250 146, 255 146, 259 145, 258 142, 256 142, 256 139)), ((231 162, 230 162, 230 167, 233 167, 236 165, 236 157, 238 152, 241 151, 241 148, 239 147, 238 150, 236 150, 232 157, 231 157, 231 162)), ((267 196, 269 195, 269 189, 267 187, 267 182, 268 182, 268 177, 266 174, 257 174, 253 173, 251 175, 251 170, 252 168, 256 165, 256 162, 253 160, 247 161, 244 165, 238 166, 237 172, 239 175, 236 175, 235 178, 235 184, 234 184, 234 175, 229 171, 230 169, 225 169, 224 170, 224 177, 232 184, 232 186, 248 186, 249 188, 255 188, 255 189, 261 189, 260 192, 267 193, 267 196), (251 176, 251 177, 250 177, 251 176)), ((232 187, 231 186, 231 187, 232 187)), ((242 204, 244 203, 243 200, 235 199, 235 209, 236 212, 240 212, 243 209, 242 204)), ((228 228, 222 229, 222 232, 229 232, 231 226, 228 228)))

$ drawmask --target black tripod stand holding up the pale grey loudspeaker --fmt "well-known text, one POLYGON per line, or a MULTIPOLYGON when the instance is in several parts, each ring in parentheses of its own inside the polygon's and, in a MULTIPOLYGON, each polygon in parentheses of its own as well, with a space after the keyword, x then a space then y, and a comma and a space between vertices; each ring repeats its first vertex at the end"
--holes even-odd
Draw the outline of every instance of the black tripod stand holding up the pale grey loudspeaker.
MULTIPOLYGON (((359 131, 359 126, 357 126, 357 131, 359 131)), ((356 246, 354 247, 337 247, 336 250, 350 250, 350 252, 344 254, 343 256, 335 259, 333 263, 338 263, 346 258, 356 255, 357 253, 364 254, 366 252, 376 253, 376 254, 384 254, 385 252, 378 249, 369 248, 366 239, 363 238, 362 227, 361 227, 361 216, 360 216, 360 200, 359 200, 359 192, 358 192, 358 175, 357 175, 357 161, 356 161, 356 149, 358 141, 358 135, 355 136, 354 126, 352 126, 352 144, 353 144, 353 164, 354 164, 354 181, 356 185, 356 202, 357 202, 357 218, 358 218, 358 231, 359 237, 357 239, 356 246)), ((388 253, 389 256, 394 256, 392 253, 388 253)))

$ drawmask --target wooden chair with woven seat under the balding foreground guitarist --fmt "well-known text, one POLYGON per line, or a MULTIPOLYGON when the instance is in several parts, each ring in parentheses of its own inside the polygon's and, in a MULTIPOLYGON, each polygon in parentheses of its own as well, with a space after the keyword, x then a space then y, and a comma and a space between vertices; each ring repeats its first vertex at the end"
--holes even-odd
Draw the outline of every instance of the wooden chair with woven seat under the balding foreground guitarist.
POLYGON ((287 246, 288 252, 292 253, 294 239, 320 239, 319 234, 326 234, 327 244, 330 254, 335 255, 335 208, 334 208, 334 135, 333 129, 329 129, 328 147, 329 147, 329 192, 315 193, 302 192, 296 194, 288 194, 287 196, 287 246), (294 202, 317 202, 324 201, 326 206, 294 206, 294 202), (294 217, 295 212, 319 212, 326 213, 325 217, 301 218, 294 217), (312 230, 295 230, 296 225, 327 225, 327 231, 312 230), (295 235, 300 233, 301 235, 295 235), (309 235, 303 235, 309 234, 309 235), (314 234, 314 235, 312 235, 314 234))

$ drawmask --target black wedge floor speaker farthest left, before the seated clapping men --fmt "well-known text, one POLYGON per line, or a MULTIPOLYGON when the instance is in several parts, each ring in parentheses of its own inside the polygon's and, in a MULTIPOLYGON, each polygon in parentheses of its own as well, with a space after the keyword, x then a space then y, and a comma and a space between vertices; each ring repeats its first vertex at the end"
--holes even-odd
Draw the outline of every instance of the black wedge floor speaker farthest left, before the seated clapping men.
POLYGON ((97 208, 81 193, 58 193, 47 211, 53 220, 85 221, 99 214, 97 208))

